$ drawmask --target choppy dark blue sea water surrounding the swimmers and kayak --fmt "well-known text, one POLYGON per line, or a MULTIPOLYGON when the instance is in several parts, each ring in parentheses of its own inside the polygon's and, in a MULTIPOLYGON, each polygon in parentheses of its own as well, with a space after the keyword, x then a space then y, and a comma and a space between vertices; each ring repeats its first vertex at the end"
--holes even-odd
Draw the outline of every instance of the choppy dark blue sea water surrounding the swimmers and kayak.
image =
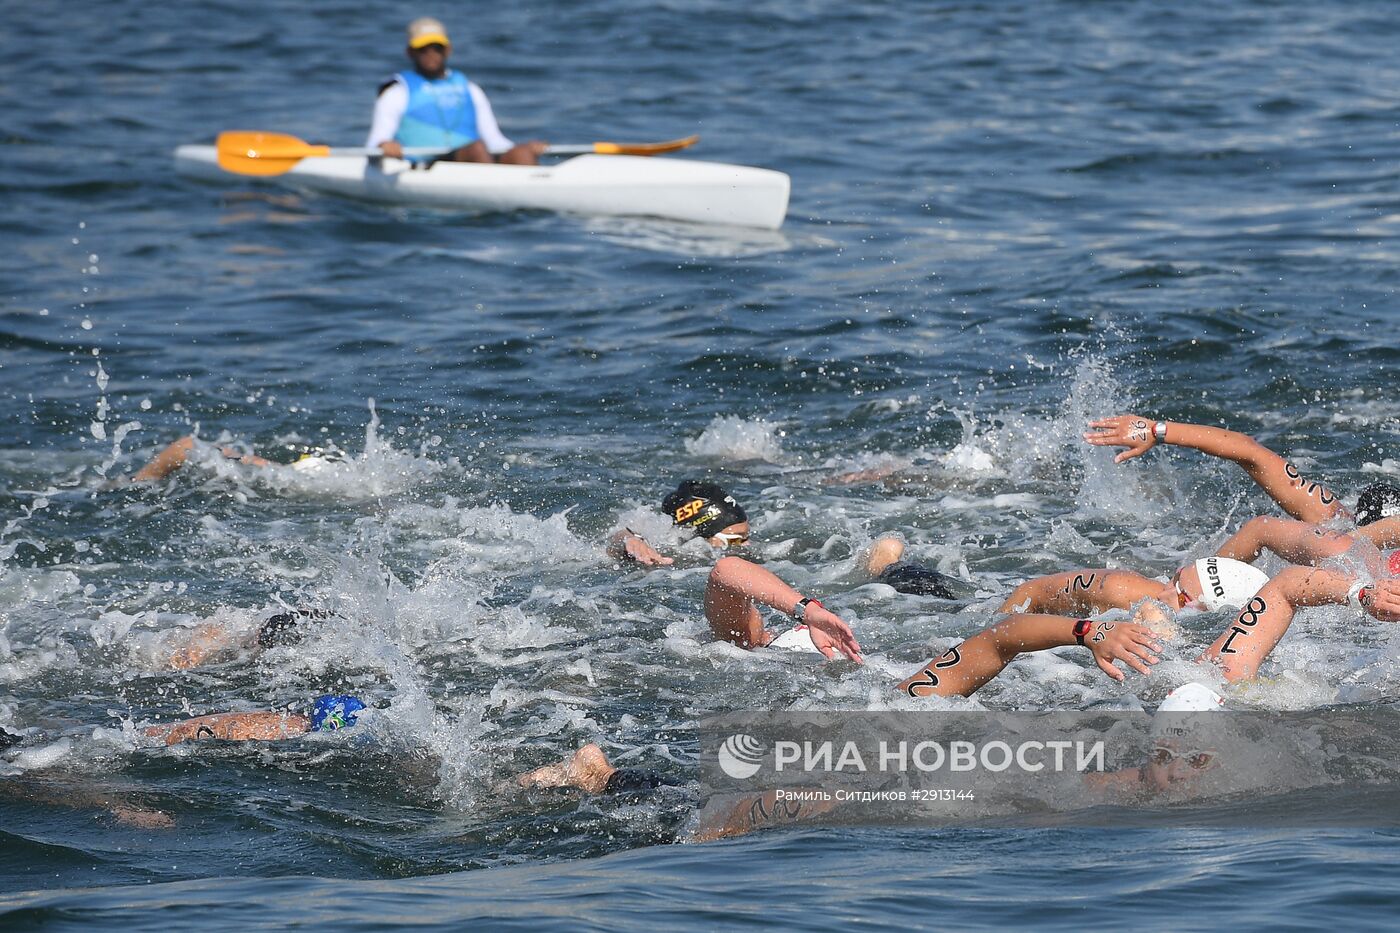
MULTIPOLYGON (((1383 3, 652 3, 437 11, 515 139, 666 139, 792 177, 780 233, 405 212, 178 179, 223 129, 358 144, 412 4, 73 3, 0 35, 0 906, 14 923, 599 929, 1380 925, 1378 831, 806 831, 672 845, 694 723, 868 709, 1068 566, 1163 573, 1268 504, 1116 468, 1084 419, 1252 431, 1352 496, 1400 474, 1400 17, 1383 3), (158 489, 104 488, 195 431, 158 489), (258 471, 217 441, 323 475, 258 471), (823 483, 900 465, 883 485, 823 483), (686 475, 855 625, 865 668, 713 644, 707 555, 619 572, 686 475), (949 607, 862 587, 893 531, 949 607), (344 619, 192 671, 288 604, 344 619), (136 727, 353 689, 349 741, 136 727), (584 741, 643 803, 522 796, 584 741), (42 765, 42 766, 41 766, 42 765), (14 772, 14 773, 10 773, 14 772), (171 825, 122 822, 126 807, 171 825), (277 880, 270 880, 277 878, 277 880), (139 887, 123 887, 139 885, 139 887)), ((1400 692, 1393 629, 1303 616, 1240 698, 1400 692)), ((1186 678, 1218 619, 1162 668, 1186 678)), ((1028 658, 976 703, 1151 706, 1028 658)), ((1242 804, 1243 806, 1243 804, 1242 804)))

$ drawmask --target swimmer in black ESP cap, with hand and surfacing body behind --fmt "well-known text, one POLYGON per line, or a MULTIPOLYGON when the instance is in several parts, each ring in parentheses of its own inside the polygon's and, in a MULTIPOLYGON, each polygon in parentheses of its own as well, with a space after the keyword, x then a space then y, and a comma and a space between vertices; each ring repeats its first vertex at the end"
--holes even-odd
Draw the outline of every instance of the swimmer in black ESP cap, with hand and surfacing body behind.
MULTIPOLYGON (((713 548, 731 549, 749 544, 749 514, 743 506, 717 483, 687 479, 661 502, 661 510, 671 516, 676 527, 704 538, 713 548)), ((608 544, 608 553, 616 560, 634 560, 644 566, 675 563, 661 555, 645 538, 623 528, 608 544)), ((883 535, 861 558, 862 572, 874 580, 900 593, 953 598, 948 579, 917 563, 903 562, 904 542, 883 535)))

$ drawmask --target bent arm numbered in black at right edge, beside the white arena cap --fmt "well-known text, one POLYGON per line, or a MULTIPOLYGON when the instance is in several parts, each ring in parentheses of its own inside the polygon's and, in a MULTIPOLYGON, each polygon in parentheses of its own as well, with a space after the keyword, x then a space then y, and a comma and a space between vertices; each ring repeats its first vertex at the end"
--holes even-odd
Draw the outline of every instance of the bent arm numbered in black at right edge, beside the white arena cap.
MULTIPOLYGON (((1355 586, 1354 577, 1334 570, 1288 567, 1264 584, 1201 657, 1219 664, 1226 681, 1250 679, 1288 632, 1299 608, 1347 602, 1355 586)), ((1372 616, 1400 621, 1400 581, 1380 580, 1362 593, 1358 598, 1372 616)))

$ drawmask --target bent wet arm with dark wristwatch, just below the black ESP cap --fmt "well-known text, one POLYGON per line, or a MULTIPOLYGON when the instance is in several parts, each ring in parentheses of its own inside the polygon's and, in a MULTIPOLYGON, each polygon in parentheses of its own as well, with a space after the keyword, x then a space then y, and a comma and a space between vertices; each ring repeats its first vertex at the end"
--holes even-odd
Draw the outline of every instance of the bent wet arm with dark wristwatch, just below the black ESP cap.
MULTIPOLYGON (((756 563, 743 558, 720 558, 704 588, 704 618, 710 621, 715 637, 739 647, 763 647, 771 635, 763 628, 759 607, 792 615, 801 600, 801 593, 756 563)), ((802 621, 812 633, 812 643, 826 657, 834 658, 840 651, 853 661, 865 661, 851 626, 820 602, 809 602, 802 621)))

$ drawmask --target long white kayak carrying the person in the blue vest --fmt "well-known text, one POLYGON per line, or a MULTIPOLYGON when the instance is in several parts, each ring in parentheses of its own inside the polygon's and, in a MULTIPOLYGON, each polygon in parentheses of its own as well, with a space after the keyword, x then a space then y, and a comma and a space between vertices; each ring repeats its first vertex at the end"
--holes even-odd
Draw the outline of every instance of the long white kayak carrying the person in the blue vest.
MULTIPOLYGON (((181 146, 175 171, 224 181, 213 146, 181 146)), ((578 156, 554 165, 438 163, 413 168, 398 158, 304 158, 279 179, 316 192, 385 205, 469 212, 550 210, 665 217, 777 230, 791 181, 783 172, 689 158, 578 156)))

